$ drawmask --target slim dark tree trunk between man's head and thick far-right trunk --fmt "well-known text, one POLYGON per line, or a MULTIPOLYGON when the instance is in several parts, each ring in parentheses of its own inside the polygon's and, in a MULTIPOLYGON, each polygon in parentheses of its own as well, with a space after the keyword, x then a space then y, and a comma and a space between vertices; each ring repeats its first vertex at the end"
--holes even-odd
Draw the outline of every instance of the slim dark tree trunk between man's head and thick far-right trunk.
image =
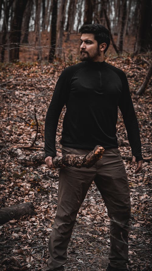
POLYGON ((120 36, 119 36, 119 52, 123 51, 123 32, 126 22, 126 9, 127 9, 127 0, 123 0, 122 2, 122 18, 121 18, 121 28, 120 28, 120 36))

